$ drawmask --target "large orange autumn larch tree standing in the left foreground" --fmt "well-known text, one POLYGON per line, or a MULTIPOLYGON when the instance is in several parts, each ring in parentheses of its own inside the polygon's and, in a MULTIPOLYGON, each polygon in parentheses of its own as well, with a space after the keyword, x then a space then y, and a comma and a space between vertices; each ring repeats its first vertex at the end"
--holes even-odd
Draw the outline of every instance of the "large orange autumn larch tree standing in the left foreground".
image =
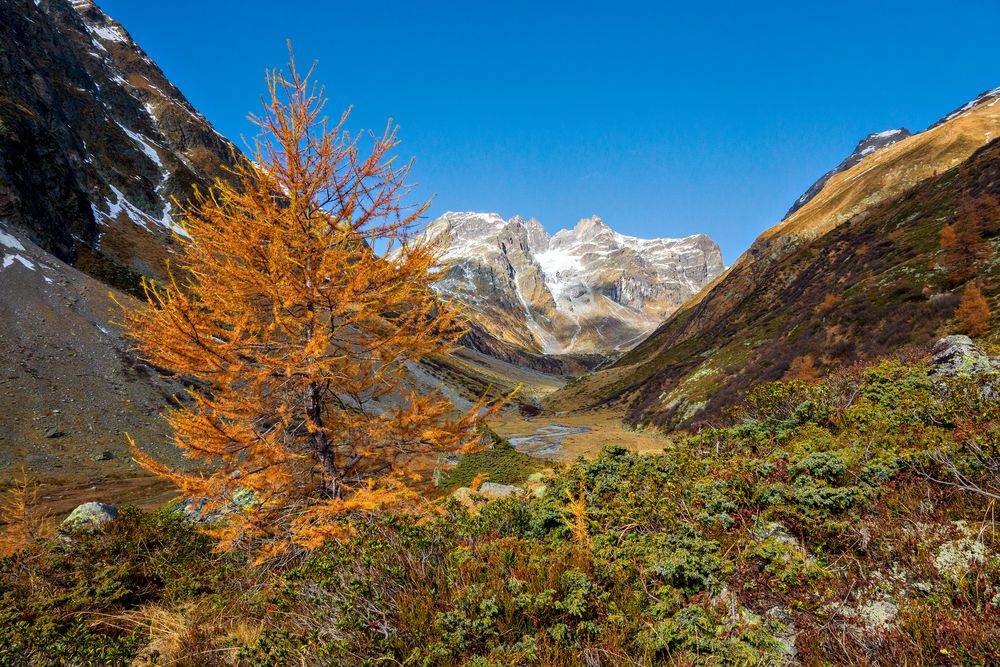
POLYGON ((442 452, 474 446, 495 410, 459 412, 412 369, 457 346, 465 321, 432 290, 445 267, 407 206, 409 166, 391 123, 358 137, 323 116, 323 91, 295 68, 269 72, 250 159, 185 207, 178 270, 146 284, 122 324, 190 400, 166 414, 198 460, 184 473, 135 458, 207 511, 249 497, 214 532, 261 559, 342 535, 359 511, 409 507, 442 452), (252 493, 246 493, 246 492, 252 493))

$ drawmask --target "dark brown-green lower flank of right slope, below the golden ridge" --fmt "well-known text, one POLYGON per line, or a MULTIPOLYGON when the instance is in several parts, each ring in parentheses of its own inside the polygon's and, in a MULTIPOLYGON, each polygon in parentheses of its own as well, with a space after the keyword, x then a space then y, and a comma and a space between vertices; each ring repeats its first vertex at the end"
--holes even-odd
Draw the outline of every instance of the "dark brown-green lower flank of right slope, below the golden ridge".
MULTIPOLYGON (((819 238, 737 263, 614 367, 570 383, 548 405, 619 402, 633 422, 677 426, 718 416, 749 386, 783 376, 797 356, 833 366, 927 343, 947 329, 958 302, 946 272, 930 268, 940 229, 964 202, 997 194, 993 142, 819 238), (828 294, 843 301, 821 311, 828 294)), ((981 271, 995 301, 997 266, 981 271)))

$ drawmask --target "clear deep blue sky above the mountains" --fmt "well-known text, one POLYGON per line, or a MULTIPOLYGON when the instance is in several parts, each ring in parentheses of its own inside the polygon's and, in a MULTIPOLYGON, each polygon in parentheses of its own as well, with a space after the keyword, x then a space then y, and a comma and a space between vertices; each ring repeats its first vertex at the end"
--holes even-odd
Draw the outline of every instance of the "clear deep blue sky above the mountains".
POLYGON ((597 214, 727 263, 865 134, 1000 86, 996 0, 97 2, 237 143, 290 38, 351 127, 396 120, 432 214, 597 214))

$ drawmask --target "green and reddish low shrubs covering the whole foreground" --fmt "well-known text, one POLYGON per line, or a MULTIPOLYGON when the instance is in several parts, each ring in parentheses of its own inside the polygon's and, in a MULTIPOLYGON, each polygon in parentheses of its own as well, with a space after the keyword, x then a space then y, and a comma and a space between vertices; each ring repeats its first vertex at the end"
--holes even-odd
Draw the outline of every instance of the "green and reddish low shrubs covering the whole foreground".
POLYGON ((662 454, 356 513, 282 565, 126 510, 0 561, 0 662, 995 664, 997 383, 905 359, 759 385, 662 454))

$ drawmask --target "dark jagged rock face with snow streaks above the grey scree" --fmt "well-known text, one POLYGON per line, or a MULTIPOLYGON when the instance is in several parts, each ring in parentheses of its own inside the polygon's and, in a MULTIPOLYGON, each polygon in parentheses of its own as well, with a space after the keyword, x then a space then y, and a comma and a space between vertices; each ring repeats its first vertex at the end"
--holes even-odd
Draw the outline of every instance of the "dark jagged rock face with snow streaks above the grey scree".
POLYGON ((171 197, 231 151, 90 0, 0 3, 0 220, 59 259, 161 276, 171 197))

